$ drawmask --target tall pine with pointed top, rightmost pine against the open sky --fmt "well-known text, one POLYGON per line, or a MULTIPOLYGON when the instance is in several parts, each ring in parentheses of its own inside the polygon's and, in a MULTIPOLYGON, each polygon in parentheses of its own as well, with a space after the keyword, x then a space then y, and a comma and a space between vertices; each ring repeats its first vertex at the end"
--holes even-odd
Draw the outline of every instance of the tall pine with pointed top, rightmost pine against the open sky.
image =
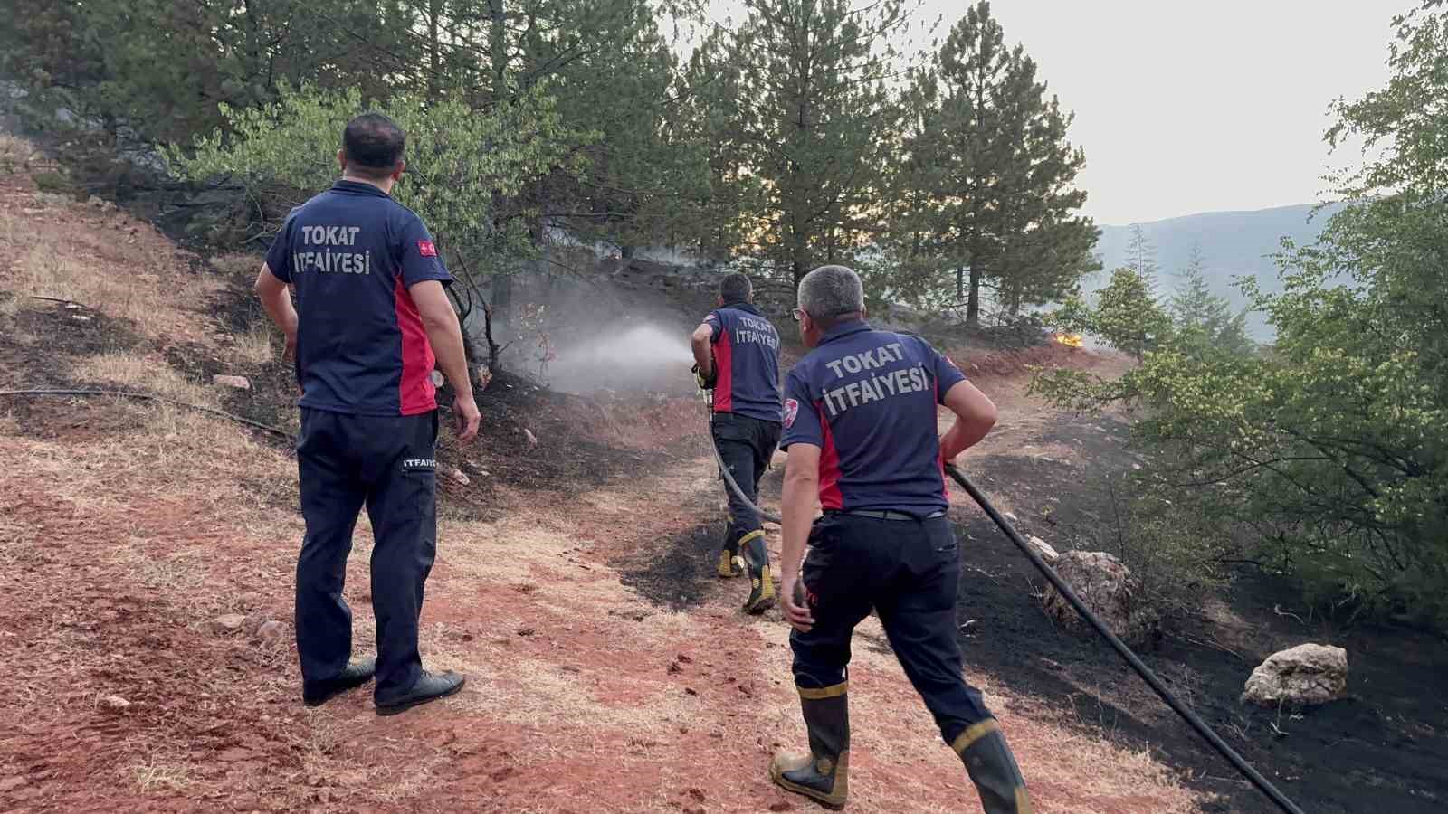
POLYGON ((982 288, 1015 314, 1063 297, 1087 272, 1098 230, 1079 214, 1074 187, 1085 154, 1067 140, 1072 114, 1047 96, 1024 46, 980 0, 933 61, 914 71, 898 229, 911 256, 930 258, 924 293, 940 298, 954 278, 966 322, 980 319, 982 288), (921 200, 924 198, 924 200, 921 200))

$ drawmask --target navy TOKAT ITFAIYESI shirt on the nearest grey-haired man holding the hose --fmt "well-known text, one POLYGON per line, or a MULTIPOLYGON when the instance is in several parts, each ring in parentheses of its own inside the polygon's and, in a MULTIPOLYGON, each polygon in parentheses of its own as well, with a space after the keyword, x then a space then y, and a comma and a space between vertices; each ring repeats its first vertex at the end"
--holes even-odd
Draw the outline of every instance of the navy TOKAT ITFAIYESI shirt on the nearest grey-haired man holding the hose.
POLYGON ((948 508, 935 407, 964 379, 918 336, 837 324, 789 372, 780 446, 820 448, 828 511, 948 508))

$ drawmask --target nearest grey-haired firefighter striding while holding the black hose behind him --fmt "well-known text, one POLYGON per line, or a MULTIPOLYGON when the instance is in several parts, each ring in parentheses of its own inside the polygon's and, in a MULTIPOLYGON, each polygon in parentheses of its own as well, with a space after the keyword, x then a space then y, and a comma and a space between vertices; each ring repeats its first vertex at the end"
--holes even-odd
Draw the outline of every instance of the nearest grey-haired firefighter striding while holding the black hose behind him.
POLYGON ((849 268, 805 275, 795 319, 812 351, 785 382, 780 592, 809 752, 775 756, 769 775, 844 804, 850 636, 873 607, 985 811, 1031 811, 1001 726, 961 675, 956 640, 960 552, 941 469, 985 437, 995 406, 925 340, 872 329, 849 268), (937 404, 956 414, 941 437, 937 404))

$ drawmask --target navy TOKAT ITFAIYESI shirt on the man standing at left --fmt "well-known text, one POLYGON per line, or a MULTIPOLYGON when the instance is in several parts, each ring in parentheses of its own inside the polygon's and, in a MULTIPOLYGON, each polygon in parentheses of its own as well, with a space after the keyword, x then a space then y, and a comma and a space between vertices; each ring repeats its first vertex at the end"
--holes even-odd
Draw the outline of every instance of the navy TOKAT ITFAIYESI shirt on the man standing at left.
POLYGON ((447 285, 423 219, 372 184, 337 181, 287 216, 266 268, 297 290, 301 407, 358 416, 437 408, 437 359, 408 288, 447 285))

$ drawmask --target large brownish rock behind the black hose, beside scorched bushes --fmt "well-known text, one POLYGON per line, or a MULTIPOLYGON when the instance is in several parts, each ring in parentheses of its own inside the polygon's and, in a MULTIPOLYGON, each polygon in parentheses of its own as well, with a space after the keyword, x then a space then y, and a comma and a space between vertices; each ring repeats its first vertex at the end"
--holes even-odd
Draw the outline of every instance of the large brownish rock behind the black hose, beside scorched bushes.
MULTIPOLYGON (((1066 552, 1053 565, 1082 603, 1100 618, 1102 624, 1128 642, 1148 639, 1157 627, 1156 614, 1138 607, 1137 581, 1131 569, 1106 552, 1066 552)), ((1095 634, 1076 608, 1066 601, 1054 585, 1045 588, 1045 611, 1058 623, 1073 630, 1095 634)))

